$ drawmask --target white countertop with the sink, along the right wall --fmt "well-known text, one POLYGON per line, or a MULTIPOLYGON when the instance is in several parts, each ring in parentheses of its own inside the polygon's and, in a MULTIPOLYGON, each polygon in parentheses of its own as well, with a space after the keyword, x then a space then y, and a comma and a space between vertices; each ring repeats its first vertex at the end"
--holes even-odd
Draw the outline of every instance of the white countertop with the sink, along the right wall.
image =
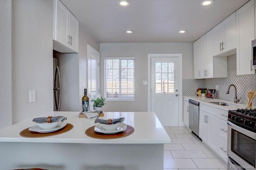
MULTIPOLYGON (((239 109, 245 109, 245 104, 234 103, 232 101, 226 101, 226 100, 222 100, 222 99, 210 99, 210 98, 206 98, 206 97, 202 97, 202 96, 183 96, 183 97, 187 98, 187 99, 197 101, 199 103, 203 103, 205 105, 216 107, 218 109, 222 109, 222 110, 225 110, 225 111, 236 110, 238 108, 239 109), (216 104, 213 104, 213 103, 210 103, 210 102, 223 102, 223 103, 229 103, 229 104, 232 104, 232 105, 235 105, 235 106, 221 106, 221 105, 216 105, 216 104)), ((200 107, 200 104, 199 104, 199 107, 200 107)))

